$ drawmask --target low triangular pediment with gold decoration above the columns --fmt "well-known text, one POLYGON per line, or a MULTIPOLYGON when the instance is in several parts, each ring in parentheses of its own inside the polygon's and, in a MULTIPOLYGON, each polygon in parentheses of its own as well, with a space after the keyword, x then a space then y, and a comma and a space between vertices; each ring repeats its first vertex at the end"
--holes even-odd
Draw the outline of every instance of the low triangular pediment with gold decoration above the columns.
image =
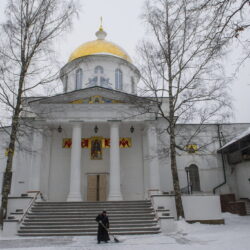
POLYGON ((34 102, 36 104, 136 104, 154 101, 113 89, 91 87, 31 101, 30 104, 34 102))

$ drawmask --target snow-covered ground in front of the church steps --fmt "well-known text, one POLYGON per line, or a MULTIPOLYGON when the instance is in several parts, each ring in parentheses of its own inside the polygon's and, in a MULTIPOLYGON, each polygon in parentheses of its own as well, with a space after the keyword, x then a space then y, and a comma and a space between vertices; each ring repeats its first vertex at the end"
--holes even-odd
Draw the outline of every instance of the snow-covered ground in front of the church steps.
POLYGON ((250 216, 223 214, 225 225, 178 222, 169 235, 117 236, 121 243, 96 244, 95 237, 0 238, 0 249, 28 250, 249 250, 250 216))

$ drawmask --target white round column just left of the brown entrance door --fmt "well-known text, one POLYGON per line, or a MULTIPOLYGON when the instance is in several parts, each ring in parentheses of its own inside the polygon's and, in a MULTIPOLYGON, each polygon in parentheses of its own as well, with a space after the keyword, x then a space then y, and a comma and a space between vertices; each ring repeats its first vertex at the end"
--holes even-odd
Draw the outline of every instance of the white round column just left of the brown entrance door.
POLYGON ((81 123, 73 123, 71 162, 70 162, 70 189, 67 201, 82 201, 81 195, 81 123))

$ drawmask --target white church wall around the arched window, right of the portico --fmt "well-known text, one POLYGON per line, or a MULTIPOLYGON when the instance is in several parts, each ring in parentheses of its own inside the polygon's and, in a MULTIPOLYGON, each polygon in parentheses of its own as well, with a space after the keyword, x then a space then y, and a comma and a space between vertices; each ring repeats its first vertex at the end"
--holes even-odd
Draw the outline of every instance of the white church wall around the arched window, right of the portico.
MULTIPOLYGON (((158 141, 159 141, 159 160, 160 160, 160 173, 161 173, 161 187, 162 191, 171 192, 173 190, 172 173, 169 157, 169 136, 167 133, 162 133, 166 129, 166 120, 159 119, 158 124, 158 141)), ((184 144, 187 139, 196 131, 199 125, 178 125, 179 135, 177 136, 177 143, 184 144)), ((221 126, 224 139, 226 143, 235 137, 237 134, 244 131, 249 127, 249 124, 224 124, 221 126)), ((203 192, 212 192, 213 188, 221 184, 224 181, 222 159, 221 155, 217 153, 220 148, 218 141, 218 127, 214 125, 206 125, 204 129, 192 139, 191 144, 197 144, 199 146, 206 145, 202 148, 202 151, 195 154, 189 154, 183 151, 177 151, 177 168, 178 176, 180 180, 180 187, 187 186, 187 176, 185 167, 191 164, 197 165, 200 176, 200 186, 203 192)), ((248 173, 248 168, 240 167, 238 173, 238 179, 248 173)), ((236 174, 231 170, 231 167, 226 164, 227 183, 221 188, 217 189, 217 193, 235 193, 238 194, 238 189, 246 190, 248 192, 248 183, 238 181, 236 183, 236 174)), ((248 177, 249 178, 249 177, 248 177)), ((247 180, 247 178, 245 178, 247 180)), ((241 191, 242 193, 242 191, 241 191)), ((246 195, 246 194, 244 194, 246 195)))

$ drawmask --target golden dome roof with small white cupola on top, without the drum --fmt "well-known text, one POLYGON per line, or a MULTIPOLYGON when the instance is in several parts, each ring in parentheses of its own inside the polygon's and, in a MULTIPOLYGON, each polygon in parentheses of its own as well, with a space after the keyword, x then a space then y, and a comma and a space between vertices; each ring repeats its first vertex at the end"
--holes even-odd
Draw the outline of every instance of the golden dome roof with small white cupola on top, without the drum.
POLYGON ((106 32, 100 29, 96 32, 97 40, 90 41, 82 44, 78 47, 69 57, 69 62, 84 56, 96 55, 96 54, 110 54, 118 56, 130 63, 132 63, 129 55, 118 45, 105 40, 106 32))

